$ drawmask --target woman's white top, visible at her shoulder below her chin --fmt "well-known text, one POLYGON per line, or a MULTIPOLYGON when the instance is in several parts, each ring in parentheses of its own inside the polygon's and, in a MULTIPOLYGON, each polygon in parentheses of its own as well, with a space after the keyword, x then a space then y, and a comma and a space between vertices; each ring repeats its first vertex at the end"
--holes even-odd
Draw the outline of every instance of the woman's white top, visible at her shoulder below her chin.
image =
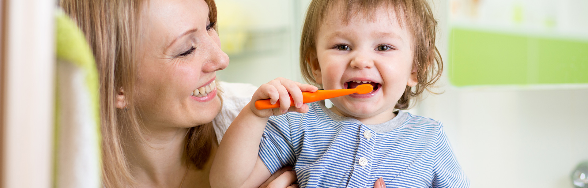
POLYGON ((239 115, 241 109, 249 103, 251 96, 258 88, 249 83, 218 82, 218 86, 223 91, 221 94, 222 109, 212 120, 212 127, 215 129, 216 139, 220 143, 230 123, 239 115))

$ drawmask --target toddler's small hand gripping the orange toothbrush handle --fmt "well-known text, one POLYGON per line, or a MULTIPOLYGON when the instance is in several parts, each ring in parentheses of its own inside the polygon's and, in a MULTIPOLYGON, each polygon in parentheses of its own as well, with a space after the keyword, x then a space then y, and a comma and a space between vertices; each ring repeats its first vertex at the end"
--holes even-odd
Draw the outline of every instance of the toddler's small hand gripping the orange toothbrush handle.
POLYGON ((255 91, 249 108, 255 113, 255 115, 263 118, 269 116, 283 115, 288 111, 306 113, 308 112, 308 105, 302 103, 302 92, 316 92, 318 88, 313 85, 303 84, 294 82, 285 78, 276 78, 268 83, 259 86, 258 90, 255 91), (295 105, 290 107, 290 96, 294 100, 295 105), (270 99, 270 102, 275 104, 280 103, 280 108, 258 110, 253 105, 257 100, 270 99))

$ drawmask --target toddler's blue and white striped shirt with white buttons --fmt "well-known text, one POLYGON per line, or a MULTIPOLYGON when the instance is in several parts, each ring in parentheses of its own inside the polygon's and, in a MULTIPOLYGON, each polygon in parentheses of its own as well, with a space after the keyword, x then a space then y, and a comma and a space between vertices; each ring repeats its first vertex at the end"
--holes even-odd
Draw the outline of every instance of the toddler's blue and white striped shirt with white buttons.
POLYGON ((402 111, 364 125, 308 104, 308 113, 270 117, 259 157, 271 173, 291 165, 300 187, 469 187, 438 121, 402 111))

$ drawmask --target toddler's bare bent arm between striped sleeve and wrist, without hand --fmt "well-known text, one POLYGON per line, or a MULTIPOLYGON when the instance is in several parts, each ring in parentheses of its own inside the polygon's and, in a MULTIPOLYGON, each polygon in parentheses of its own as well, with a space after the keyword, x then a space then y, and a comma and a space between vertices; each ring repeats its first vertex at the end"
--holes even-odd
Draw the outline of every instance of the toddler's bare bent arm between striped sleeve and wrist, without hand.
MULTIPOLYGON (((259 142, 265 129, 268 118, 255 115, 250 109, 249 103, 233 123, 226 130, 222 141, 216 151, 215 159, 212 163, 210 180, 212 187, 242 187, 246 184, 259 184, 269 177, 267 173, 254 172, 259 171, 260 160, 258 160, 259 142), (252 177, 268 176, 268 177, 252 177)), ((265 167, 265 165, 263 166, 265 167)))

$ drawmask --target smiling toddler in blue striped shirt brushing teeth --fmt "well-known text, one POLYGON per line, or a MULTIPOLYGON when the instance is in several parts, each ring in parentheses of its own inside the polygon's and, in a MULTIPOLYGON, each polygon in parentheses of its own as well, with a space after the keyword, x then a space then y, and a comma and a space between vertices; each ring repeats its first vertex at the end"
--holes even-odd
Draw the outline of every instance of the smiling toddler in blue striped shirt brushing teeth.
POLYGON ((326 108, 302 103, 315 86, 283 78, 260 86, 223 136, 211 185, 258 187, 290 165, 300 187, 373 187, 380 177, 386 187, 469 187, 442 123, 399 110, 442 72, 435 32, 426 0, 310 2, 304 78, 323 89, 368 83, 372 92, 333 98, 326 108), (268 98, 282 107, 255 109, 268 98))

